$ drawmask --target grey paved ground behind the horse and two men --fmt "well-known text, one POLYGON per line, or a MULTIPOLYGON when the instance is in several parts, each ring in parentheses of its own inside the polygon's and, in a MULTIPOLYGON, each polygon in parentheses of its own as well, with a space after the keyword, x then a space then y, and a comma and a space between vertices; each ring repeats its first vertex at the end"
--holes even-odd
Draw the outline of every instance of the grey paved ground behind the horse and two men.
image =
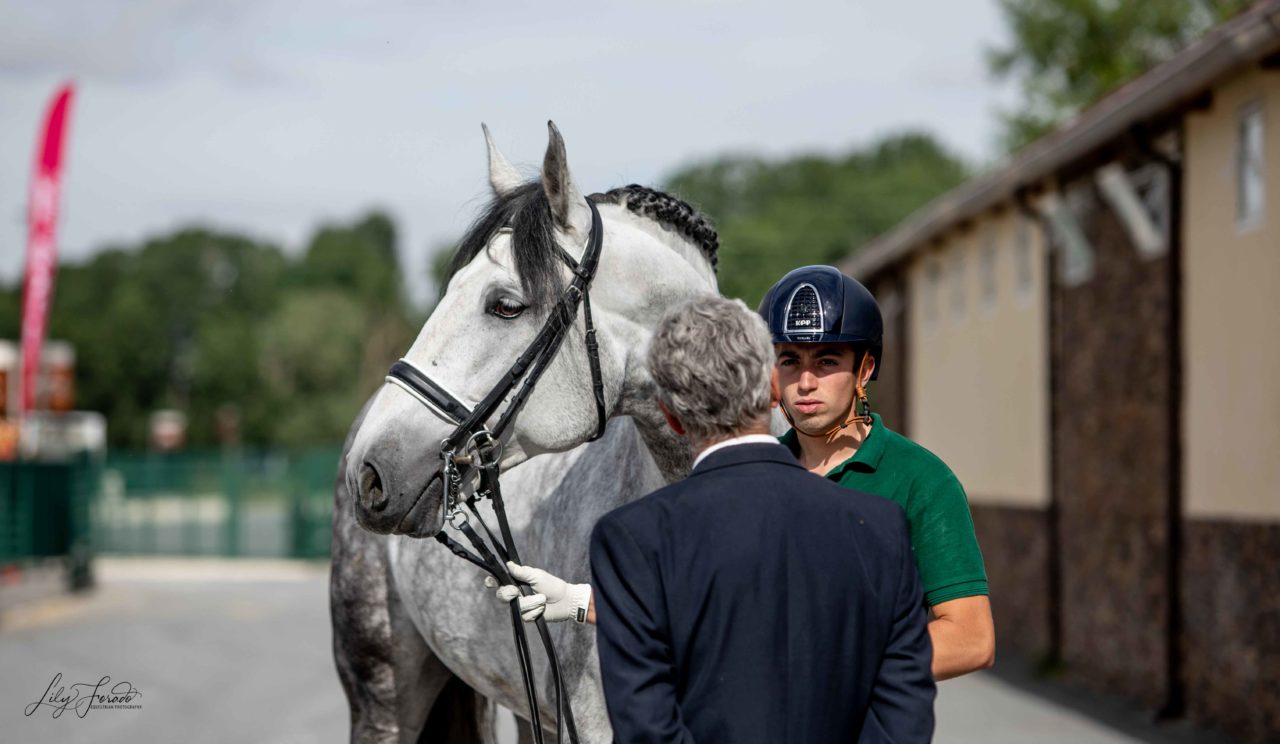
MULTIPOLYGON (((0 739, 44 741, 338 743, 347 707, 333 670, 324 566, 292 562, 100 561, 87 597, 0 615, 0 739), (24 716, 61 684, 128 683, 141 708, 24 716)), ((992 675, 945 683, 942 744, 1126 744, 1121 732, 992 675)), ((1123 726, 1121 726, 1123 727, 1123 726)), ((511 729, 500 725, 504 740, 511 729)))

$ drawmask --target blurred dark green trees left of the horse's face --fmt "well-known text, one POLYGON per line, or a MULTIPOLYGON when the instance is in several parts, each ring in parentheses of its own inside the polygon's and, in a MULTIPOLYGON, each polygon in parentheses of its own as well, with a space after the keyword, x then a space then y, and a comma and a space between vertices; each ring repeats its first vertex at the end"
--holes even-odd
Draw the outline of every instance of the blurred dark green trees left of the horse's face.
MULTIPOLYGON (((0 334, 19 333, 18 287, 0 334)), ((412 341, 396 229, 370 214, 316 232, 301 256, 241 236, 183 229, 59 268, 49 336, 77 352, 77 407, 108 417, 114 446, 146 444, 148 416, 178 408, 193 446, 234 407, 242 441, 340 441, 412 341)))

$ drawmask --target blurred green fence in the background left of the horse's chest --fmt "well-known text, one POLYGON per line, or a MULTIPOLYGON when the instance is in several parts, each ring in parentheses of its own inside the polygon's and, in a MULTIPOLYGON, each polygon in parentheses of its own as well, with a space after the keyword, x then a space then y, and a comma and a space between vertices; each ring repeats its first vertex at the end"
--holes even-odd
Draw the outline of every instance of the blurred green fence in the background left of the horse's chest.
POLYGON ((100 553, 329 556, 340 447, 111 452, 93 505, 100 553))

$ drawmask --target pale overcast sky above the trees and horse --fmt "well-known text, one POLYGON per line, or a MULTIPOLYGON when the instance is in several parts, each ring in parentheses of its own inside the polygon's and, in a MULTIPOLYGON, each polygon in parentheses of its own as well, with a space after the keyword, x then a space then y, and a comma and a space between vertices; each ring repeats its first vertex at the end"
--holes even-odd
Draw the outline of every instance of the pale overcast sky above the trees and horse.
POLYGON ((20 274, 37 129, 78 86, 59 245, 200 223, 300 250, 369 207, 429 250, 486 198, 486 122, 536 165, 547 119, 585 192, 724 152, 841 152, 902 128, 974 163, 1007 90, 993 0, 17 0, 0 6, 0 280, 20 274))

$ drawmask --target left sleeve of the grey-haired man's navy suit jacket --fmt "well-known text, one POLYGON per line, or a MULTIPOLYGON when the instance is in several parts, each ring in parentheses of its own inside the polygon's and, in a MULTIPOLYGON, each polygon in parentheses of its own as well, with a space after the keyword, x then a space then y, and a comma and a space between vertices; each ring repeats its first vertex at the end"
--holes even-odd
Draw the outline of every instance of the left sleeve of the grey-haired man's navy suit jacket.
POLYGON ((626 526, 602 519, 591 531, 600 679, 616 743, 684 743, 671 635, 655 563, 626 526))

